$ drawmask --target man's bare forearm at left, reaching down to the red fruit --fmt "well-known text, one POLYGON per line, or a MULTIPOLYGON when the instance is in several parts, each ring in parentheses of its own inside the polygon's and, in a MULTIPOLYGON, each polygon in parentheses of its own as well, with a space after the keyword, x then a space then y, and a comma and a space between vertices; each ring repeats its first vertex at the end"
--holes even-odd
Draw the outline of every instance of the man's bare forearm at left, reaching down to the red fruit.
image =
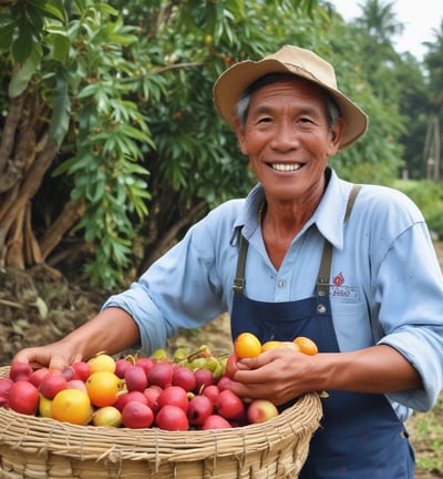
POLYGON ((97 353, 117 354, 138 340, 138 327, 132 316, 121 308, 110 307, 69 334, 61 343, 68 342, 82 359, 89 359, 97 353))

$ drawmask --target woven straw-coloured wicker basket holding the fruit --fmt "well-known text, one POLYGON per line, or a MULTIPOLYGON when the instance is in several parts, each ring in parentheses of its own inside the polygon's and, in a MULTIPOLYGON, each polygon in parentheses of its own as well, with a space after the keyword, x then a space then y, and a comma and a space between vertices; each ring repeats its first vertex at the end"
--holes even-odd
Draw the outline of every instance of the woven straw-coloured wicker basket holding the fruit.
POLYGON ((320 418, 315 394, 261 425, 210 431, 73 426, 0 408, 0 478, 296 478, 320 418))

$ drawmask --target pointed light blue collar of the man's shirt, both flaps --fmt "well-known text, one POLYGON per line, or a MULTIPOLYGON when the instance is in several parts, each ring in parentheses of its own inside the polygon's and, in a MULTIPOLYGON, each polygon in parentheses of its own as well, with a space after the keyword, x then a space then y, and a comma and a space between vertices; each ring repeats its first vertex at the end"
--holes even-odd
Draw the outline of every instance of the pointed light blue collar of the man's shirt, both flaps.
MULTIPOLYGON (((329 175, 329 173, 330 179, 323 196, 312 217, 305 225, 303 231, 315 224, 322 236, 334 247, 341 249, 343 247, 347 202, 352 184, 340 180, 336 172, 328 167, 327 174, 329 175)), ((259 227, 258 210, 264 200, 265 191, 261 184, 258 183, 246 197, 245 207, 234 225, 236 230, 239 227, 243 228, 241 232, 247 240, 249 240, 259 227)))

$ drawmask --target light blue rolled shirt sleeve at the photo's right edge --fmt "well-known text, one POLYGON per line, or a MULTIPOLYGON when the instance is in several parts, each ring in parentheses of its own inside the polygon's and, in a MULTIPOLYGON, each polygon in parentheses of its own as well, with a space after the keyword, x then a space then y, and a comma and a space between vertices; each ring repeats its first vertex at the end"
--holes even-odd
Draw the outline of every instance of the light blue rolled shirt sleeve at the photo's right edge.
POLYGON ((432 408, 443 381, 442 272, 424 222, 414 223, 390 245, 377 277, 375 297, 384 336, 421 375, 423 390, 390 394, 415 410, 432 408))

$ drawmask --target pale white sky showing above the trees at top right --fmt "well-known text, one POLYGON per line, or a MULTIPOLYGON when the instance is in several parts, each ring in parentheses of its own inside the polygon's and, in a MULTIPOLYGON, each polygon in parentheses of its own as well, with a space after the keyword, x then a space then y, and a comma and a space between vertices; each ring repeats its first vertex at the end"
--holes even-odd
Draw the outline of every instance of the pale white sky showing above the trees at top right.
MULTIPOLYGON (((364 0, 329 0, 344 20, 352 20, 360 17, 364 0)), ((421 43, 435 41, 433 29, 440 31, 440 23, 443 19, 442 0, 385 0, 384 3, 393 3, 398 20, 404 24, 402 37, 393 40, 395 50, 399 53, 409 51, 418 60, 423 58, 426 48, 421 43)))

